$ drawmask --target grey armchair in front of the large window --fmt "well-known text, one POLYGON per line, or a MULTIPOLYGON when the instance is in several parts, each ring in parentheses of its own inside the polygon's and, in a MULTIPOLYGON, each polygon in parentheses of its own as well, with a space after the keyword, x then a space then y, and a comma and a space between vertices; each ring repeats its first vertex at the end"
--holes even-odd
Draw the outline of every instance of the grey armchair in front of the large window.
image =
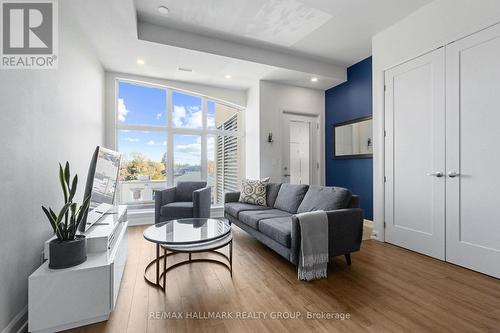
POLYGON ((207 182, 178 182, 155 193, 155 224, 189 217, 210 217, 211 189, 207 182))

